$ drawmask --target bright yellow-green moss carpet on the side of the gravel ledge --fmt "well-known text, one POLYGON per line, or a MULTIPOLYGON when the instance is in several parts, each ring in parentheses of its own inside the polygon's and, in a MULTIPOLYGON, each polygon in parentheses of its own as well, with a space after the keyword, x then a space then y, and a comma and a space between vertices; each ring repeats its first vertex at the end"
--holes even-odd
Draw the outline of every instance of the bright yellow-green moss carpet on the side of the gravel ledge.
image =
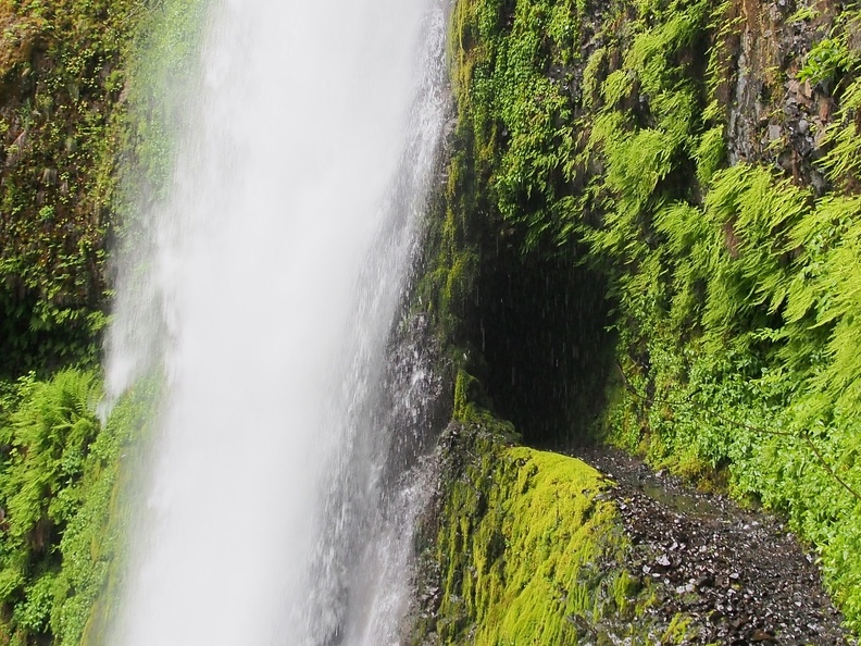
POLYGON ((612 543, 612 508, 586 493, 599 489, 598 477, 559 456, 511 449, 497 458, 483 519, 469 489, 456 488, 453 508, 472 508, 477 521, 462 548, 474 562, 474 579, 464 580, 476 592, 460 595, 474 604, 476 644, 565 642, 574 630, 566 618, 590 614, 598 591, 581 570, 612 543))

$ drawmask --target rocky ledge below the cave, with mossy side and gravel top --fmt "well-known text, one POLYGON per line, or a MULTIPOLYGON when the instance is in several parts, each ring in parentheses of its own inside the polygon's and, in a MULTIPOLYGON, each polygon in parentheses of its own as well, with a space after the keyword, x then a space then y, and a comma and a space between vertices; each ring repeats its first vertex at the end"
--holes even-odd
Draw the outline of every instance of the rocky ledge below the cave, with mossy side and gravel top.
POLYGON ((610 449, 452 422, 420 519, 410 644, 857 644, 784 524, 610 449))

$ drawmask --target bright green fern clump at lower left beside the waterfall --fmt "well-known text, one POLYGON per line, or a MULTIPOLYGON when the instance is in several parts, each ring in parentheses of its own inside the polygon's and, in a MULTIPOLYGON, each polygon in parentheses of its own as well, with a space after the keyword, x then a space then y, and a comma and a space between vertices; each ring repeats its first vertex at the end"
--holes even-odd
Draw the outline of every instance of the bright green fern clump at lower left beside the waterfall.
POLYGON ((110 608, 97 601, 117 585, 111 566, 128 509, 117 498, 132 472, 125 451, 142 433, 152 392, 137 388, 102 424, 92 372, 3 385, 0 644, 78 646, 88 626, 104 625, 110 608))

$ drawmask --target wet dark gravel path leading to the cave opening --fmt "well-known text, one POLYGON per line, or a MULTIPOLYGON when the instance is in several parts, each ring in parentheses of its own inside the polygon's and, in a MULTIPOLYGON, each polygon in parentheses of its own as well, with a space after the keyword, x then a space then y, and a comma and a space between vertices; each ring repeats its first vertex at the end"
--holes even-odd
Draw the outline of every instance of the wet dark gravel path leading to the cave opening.
POLYGON ((706 494, 606 447, 569 451, 616 483, 608 489, 633 544, 631 570, 654 583, 649 612, 692 618, 688 644, 857 644, 814 555, 777 518, 706 494))

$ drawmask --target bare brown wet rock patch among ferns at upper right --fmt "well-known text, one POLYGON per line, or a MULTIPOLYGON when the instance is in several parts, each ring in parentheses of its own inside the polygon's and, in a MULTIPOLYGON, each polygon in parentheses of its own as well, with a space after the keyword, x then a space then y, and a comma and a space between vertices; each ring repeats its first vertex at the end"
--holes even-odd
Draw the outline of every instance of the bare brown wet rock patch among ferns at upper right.
POLYGON ((822 194, 827 183, 814 162, 835 113, 834 88, 796 77, 835 12, 820 8, 822 17, 790 20, 799 8, 793 0, 736 3, 738 29, 726 42, 731 61, 719 98, 727 105, 731 164, 772 163, 822 194))

